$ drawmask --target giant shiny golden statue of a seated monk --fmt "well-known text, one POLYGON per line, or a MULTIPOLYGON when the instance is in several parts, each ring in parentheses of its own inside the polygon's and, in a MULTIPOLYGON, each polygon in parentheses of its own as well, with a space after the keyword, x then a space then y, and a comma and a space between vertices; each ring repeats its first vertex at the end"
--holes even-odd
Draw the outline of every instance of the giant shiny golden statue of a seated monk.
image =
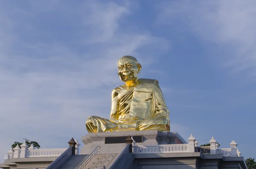
POLYGON ((117 61, 124 85, 111 95, 110 119, 90 116, 86 128, 93 132, 160 130, 170 131, 169 110, 157 80, 139 79, 141 65, 132 56, 117 61))

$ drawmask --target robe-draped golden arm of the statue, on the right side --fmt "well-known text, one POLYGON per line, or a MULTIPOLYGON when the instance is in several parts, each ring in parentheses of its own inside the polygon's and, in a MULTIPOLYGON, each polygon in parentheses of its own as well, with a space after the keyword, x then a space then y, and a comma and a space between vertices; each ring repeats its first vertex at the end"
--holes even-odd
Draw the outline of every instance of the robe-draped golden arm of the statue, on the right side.
POLYGON ((154 84, 154 114, 151 117, 162 116, 169 119, 169 110, 163 97, 163 92, 158 83, 154 84))

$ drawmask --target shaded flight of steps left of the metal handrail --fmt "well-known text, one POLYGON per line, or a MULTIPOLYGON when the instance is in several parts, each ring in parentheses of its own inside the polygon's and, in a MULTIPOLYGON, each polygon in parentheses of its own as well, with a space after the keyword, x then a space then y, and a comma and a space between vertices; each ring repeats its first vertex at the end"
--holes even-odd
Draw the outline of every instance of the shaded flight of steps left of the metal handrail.
POLYGON ((71 155, 58 169, 77 169, 88 155, 71 155))

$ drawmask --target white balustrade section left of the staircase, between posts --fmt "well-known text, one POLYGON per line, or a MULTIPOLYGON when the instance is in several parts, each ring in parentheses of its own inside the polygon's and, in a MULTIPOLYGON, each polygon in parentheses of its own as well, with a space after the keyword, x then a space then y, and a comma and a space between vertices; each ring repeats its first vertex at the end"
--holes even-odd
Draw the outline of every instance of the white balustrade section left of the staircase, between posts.
POLYGON ((26 158, 33 157, 58 157, 63 152, 66 151, 67 148, 64 149, 27 149, 26 150, 26 158))

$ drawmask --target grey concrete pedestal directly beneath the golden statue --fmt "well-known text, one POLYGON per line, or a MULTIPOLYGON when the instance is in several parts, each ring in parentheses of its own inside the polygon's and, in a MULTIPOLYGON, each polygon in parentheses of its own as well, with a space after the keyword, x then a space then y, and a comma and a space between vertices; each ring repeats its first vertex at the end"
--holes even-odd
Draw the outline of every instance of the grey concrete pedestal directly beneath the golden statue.
POLYGON ((114 142, 115 137, 128 137, 129 135, 142 136, 142 142, 136 143, 136 145, 186 144, 186 141, 177 132, 152 130, 90 133, 82 136, 84 146, 81 149, 81 154, 90 154, 97 146, 100 146, 100 154, 120 153, 125 148, 126 143, 105 143, 105 138, 108 137, 108 140, 113 138, 114 142))

